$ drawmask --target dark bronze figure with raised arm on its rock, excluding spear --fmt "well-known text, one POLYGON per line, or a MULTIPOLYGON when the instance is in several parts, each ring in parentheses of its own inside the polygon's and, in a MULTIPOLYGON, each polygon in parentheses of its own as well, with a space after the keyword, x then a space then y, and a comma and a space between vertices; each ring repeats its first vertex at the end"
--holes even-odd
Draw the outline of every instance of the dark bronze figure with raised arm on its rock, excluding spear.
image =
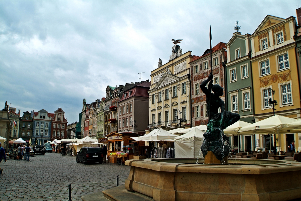
POLYGON ((222 161, 228 156, 230 148, 225 142, 227 137, 223 133, 223 129, 240 119, 239 114, 225 111, 225 103, 220 96, 224 94, 224 88, 218 84, 213 84, 212 72, 208 78, 200 85, 201 90, 206 94, 207 114, 209 121, 207 124, 207 132, 204 133, 204 142, 201 146, 203 157, 206 156, 207 151, 212 151, 217 159, 222 161), (208 89, 206 84, 208 84, 208 89), (214 93, 211 93, 213 91, 214 93), (218 109, 221 112, 218 112, 218 109))

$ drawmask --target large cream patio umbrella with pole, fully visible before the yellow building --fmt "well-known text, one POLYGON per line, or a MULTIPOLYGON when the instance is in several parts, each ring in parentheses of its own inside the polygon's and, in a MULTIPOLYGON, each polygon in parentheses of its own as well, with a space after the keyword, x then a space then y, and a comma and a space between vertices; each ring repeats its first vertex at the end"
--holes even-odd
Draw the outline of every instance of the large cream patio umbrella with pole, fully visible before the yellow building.
POLYGON ((258 121, 256 123, 252 123, 248 126, 244 126, 242 127, 239 132, 242 135, 250 135, 250 134, 258 134, 259 133, 273 133, 273 132, 277 132, 278 134, 278 149, 280 151, 280 144, 281 144, 281 139, 280 139, 280 135, 279 135, 279 130, 285 127, 288 127, 288 123, 292 123, 296 121, 293 118, 290 117, 284 117, 281 115, 275 115, 272 117, 268 117, 264 120, 258 121))

